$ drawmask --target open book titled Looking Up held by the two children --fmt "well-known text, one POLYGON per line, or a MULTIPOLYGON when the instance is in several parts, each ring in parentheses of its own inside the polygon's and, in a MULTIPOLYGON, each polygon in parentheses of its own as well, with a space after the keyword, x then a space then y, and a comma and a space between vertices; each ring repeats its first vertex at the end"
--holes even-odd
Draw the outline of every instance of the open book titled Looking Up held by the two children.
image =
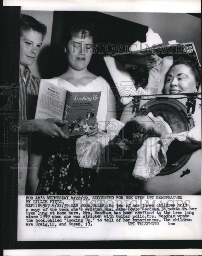
POLYGON ((55 83, 41 80, 35 119, 65 120, 61 129, 68 136, 88 133, 96 124, 101 92, 71 92, 55 83))

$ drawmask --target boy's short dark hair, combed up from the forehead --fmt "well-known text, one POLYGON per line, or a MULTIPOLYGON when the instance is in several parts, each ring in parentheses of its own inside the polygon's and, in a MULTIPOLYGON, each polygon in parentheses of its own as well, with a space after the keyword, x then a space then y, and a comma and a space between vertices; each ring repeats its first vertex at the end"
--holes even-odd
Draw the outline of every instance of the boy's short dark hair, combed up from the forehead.
POLYGON ((34 30, 42 34, 43 39, 45 38, 47 27, 43 23, 34 19, 32 16, 21 14, 20 15, 20 36, 22 36, 23 31, 34 30))

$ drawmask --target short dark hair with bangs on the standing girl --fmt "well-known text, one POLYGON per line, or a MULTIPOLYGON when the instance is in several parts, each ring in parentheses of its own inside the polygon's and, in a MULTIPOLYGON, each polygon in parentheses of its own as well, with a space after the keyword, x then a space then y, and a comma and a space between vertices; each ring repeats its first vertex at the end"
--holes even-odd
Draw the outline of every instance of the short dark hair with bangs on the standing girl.
POLYGON ((66 46, 73 37, 86 38, 90 37, 94 41, 96 38, 95 26, 93 23, 74 24, 70 29, 63 31, 63 44, 66 46))

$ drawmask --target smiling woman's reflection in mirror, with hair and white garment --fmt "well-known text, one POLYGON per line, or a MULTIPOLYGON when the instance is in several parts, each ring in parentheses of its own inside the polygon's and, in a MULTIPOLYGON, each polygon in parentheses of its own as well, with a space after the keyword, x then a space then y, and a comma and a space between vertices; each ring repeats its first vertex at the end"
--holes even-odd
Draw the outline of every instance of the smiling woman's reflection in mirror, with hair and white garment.
POLYGON ((147 55, 146 64, 149 69, 146 88, 136 88, 132 83, 125 91, 117 87, 124 105, 132 102, 133 96, 201 92, 201 74, 194 57, 173 61, 171 56, 162 59, 157 54, 151 54, 147 55))

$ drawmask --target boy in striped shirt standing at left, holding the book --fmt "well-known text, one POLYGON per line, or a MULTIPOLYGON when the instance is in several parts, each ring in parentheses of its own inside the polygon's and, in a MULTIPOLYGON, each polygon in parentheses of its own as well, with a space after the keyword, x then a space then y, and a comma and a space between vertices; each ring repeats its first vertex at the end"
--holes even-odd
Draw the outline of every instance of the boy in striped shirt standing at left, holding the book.
POLYGON ((20 73, 19 73, 19 183, 18 194, 25 194, 27 178, 27 165, 30 147, 28 135, 30 129, 35 127, 36 132, 50 137, 68 138, 60 129, 66 122, 48 118, 45 120, 34 119, 40 81, 33 76, 28 66, 37 58, 47 28, 44 24, 31 16, 21 14, 20 17, 20 73))

